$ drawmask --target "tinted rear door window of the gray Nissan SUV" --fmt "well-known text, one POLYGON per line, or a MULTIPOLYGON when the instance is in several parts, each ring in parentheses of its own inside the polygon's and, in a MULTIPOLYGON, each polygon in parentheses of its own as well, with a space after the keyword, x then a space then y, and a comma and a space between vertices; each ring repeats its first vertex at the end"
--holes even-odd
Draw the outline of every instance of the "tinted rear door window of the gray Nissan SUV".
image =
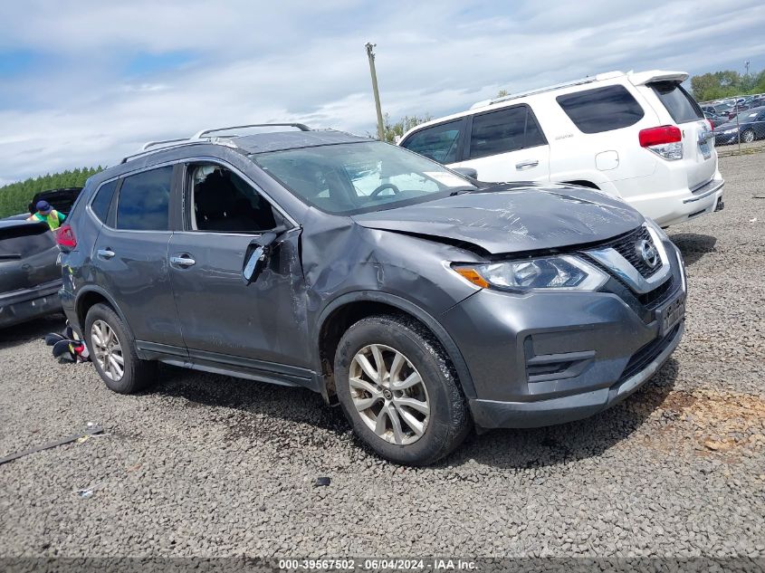
POLYGON ((125 177, 117 201, 117 228, 167 231, 173 167, 159 167, 125 177))

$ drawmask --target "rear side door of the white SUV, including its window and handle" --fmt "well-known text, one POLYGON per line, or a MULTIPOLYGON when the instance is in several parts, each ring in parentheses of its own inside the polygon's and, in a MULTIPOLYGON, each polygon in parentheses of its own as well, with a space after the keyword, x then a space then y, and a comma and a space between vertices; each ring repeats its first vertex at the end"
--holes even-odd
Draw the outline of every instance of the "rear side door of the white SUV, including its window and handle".
POLYGON ((548 181, 550 146, 526 104, 474 115, 468 122, 464 160, 481 181, 548 181))

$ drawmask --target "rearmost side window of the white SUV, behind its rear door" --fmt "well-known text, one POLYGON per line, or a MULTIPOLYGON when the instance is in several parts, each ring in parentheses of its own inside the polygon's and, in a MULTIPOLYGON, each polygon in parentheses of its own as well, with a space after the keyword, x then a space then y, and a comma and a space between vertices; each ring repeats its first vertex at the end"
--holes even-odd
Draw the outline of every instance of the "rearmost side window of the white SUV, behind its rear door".
POLYGON ((620 85, 568 93, 556 100, 582 133, 627 128, 644 115, 640 104, 620 85))

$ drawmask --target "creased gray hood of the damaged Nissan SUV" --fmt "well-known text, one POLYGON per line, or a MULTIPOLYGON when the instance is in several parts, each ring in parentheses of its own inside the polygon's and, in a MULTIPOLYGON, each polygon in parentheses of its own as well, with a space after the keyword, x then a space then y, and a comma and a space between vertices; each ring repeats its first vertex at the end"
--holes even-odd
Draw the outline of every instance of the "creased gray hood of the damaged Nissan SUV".
POLYGON ((528 183, 491 186, 353 219, 370 229, 440 237, 492 254, 596 243, 644 221, 626 203, 584 187, 528 183))

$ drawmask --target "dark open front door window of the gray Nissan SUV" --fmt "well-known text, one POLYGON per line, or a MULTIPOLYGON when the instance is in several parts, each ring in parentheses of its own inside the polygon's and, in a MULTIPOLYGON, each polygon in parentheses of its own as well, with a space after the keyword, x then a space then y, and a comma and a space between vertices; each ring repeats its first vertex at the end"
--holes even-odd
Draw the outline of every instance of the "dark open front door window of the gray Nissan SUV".
POLYGON ((273 206, 230 169, 195 165, 190 177, 191 230, 262 233, 276 226, 273 206))

